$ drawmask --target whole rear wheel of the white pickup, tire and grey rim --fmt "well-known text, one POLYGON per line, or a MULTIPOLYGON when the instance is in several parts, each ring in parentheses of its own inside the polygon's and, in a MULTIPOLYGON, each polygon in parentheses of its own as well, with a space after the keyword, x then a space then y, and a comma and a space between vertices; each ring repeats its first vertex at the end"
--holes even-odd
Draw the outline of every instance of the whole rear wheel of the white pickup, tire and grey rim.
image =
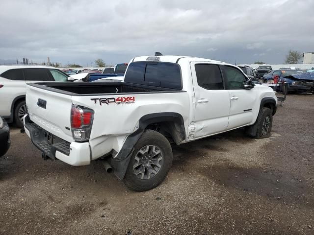
POLYGON ((134 146, 123 182, 134 191, 155 188, 166 178, 171 164, 169 141, 159 132, 146 130, 134 146))

